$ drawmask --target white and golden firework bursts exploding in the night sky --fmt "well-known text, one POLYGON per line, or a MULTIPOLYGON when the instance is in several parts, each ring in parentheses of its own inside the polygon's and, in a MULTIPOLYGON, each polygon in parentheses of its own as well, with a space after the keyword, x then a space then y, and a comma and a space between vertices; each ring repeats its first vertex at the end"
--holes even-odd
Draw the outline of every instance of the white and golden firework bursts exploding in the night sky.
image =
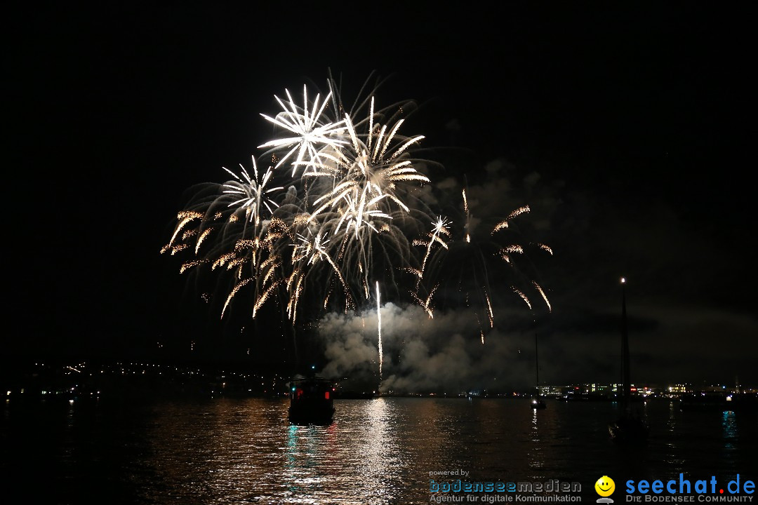
MULTIPOLYGON (((251 167, 224 168, 227 182, 199 185, 161 249, 183 258, 181 273, 218 279, 222 318, 243 292, 252 297, 244 298, 252 318, 265 304, 277 304, 293 325, 303 314, 313 320, 374 304, 378 310, 380 286, 384 298, 418 304, 434 317, 437 294, 451 291, 449 273, 467 265, 475 275, 466 280, 475 283, 488 323, 481 325, 483 343, 485 327, 494 324, 493 289, 507 290, 529 307, 531 290, 550 308, 531 279, 490 285, 487 263, 515 269, 513 258, 524 254, 524 246, 485 251, 472 240, 465 189, 462 230, 434 208, 429 171, 435 164, 417 156, 424 136, 402 132, 412 101, 377 108, 369 92, 347 108, 334 79, 327 79, 327 88, 321 95, 304 86, 302 102, 287 90, 286 98, 275 96, 281 111, 262 117, 277 138, 258 146, 251 167)), ((492 242, 528 212, 521 207, 498 218, 492 242)))

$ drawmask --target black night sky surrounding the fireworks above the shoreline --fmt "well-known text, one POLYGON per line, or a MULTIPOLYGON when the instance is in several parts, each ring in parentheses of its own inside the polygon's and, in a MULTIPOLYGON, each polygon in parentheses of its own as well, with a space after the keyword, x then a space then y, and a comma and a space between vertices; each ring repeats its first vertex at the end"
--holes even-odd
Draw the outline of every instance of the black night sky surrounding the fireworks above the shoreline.
MULTIPOLYGON (((500 299, 487 373, 531 374, 536 331, 544 381, 615 380, 627 276, 633 379, 758 385, 747 13, 531 3, 9 15, 5 359, 186 359, 196 341, 204 359, 280 360, 274 326, 221 322, 159 251, 187 189, 260 154, 274 95, 331 70, 347 95, 374 72, 377 100, 417 101, 406 133, 443 164, 433 182, 465 180, 478 216, 529 204, 553 249, 552 313, 510 323, 533 316, 500 299)), ((454 334, 419 330, 396 379, 481 369, 478 332, 440 319, 454 334)))

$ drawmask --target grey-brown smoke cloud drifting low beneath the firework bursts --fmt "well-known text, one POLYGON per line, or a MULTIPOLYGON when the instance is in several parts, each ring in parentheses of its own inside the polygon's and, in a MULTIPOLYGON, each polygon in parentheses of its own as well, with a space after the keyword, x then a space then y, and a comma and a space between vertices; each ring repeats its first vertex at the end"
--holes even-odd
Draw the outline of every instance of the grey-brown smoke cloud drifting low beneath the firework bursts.
POLYGON ((327 365, 322 374, 343 387, 403 394, 468 391, 510 392, 534 386, 534 336, 491 329, 481 339, 468 311, 381 307, 384 349, 379 376, 377 313, 330 313, 319 324, 327 365))

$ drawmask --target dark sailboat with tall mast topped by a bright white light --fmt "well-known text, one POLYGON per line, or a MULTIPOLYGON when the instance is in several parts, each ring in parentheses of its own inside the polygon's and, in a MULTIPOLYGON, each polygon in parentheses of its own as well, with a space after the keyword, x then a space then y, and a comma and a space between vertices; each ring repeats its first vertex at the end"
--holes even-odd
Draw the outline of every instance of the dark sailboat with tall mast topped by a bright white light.
POLYGON ((629 372, 629 335, 626 327, 626 279, 622 285, 622 391, 619 399, 619 418, 608 424, 608 432, 615 442, 640 443, 647 440, 647 424, 631 408, 631 373, 629 372))

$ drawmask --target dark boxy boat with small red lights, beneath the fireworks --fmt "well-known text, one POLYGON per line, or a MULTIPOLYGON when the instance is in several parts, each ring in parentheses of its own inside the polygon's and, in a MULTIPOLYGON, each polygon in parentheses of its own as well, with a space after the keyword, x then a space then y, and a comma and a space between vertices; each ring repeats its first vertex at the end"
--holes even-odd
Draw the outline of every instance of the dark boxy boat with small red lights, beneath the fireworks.
POLYGON ((323 377, 311 374, 290 379, 290 423, 328 426, 334 421, 334 387, 323 377))

